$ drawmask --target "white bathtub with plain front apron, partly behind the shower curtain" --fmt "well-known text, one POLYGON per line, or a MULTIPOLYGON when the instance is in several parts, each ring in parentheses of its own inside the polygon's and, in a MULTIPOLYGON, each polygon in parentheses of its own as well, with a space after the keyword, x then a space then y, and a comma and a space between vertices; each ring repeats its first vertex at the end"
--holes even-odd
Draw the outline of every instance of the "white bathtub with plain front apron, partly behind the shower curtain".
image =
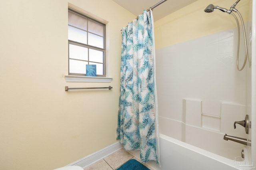
MULTIPOLYGON (((131 152, 140 156, 139 151, 131 152)), ((236 162, 180 140, 160 134, 160 163, 147 164, 155 170, 236 170, 236 162)))

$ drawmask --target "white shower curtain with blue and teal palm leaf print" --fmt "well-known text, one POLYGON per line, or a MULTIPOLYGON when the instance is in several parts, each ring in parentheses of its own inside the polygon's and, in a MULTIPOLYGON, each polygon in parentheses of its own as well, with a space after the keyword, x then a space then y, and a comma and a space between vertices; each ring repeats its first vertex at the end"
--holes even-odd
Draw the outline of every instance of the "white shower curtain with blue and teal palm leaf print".
POLYGON ((159 164, 158 108, 152 11, 122 28, 121 86, 117 139, 124 150, 159 164))

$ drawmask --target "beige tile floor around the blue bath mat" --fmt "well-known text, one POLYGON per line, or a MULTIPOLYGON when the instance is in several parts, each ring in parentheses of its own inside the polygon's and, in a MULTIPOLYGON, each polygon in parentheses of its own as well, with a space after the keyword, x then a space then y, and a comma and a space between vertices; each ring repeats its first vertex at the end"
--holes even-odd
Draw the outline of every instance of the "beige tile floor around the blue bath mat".
MULTIPOLYGON (((106 156, 102 160, 99 160, 98 162, 95 162, 94 164, 84 168, 84 170, 115 170, 130 159, 136 159, 141 162, 138 158, 136 158, 126 150, 120 149, 110 154, 109 156, 106 156)), ((154 170, 147 164, 144 165, 150 170, 154 170)))

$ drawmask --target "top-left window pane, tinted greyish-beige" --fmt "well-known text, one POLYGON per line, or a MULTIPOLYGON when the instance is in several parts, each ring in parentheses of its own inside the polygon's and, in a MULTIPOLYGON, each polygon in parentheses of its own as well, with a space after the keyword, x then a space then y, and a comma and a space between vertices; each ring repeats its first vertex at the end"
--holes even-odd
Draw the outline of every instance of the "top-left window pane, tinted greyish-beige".
POLYGON ((68 25, 72 25, 86 31, 87 19, 80 15, 74 14, 73 12, 68 11, 68 25))

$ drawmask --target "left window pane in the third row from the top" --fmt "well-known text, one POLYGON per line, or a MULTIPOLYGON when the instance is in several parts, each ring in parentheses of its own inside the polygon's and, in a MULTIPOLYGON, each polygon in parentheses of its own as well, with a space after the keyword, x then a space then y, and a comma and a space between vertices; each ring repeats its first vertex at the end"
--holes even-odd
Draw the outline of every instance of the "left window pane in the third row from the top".
POLYGON ((69 58, 88 61, 88 48, 69 44, 69 58))

